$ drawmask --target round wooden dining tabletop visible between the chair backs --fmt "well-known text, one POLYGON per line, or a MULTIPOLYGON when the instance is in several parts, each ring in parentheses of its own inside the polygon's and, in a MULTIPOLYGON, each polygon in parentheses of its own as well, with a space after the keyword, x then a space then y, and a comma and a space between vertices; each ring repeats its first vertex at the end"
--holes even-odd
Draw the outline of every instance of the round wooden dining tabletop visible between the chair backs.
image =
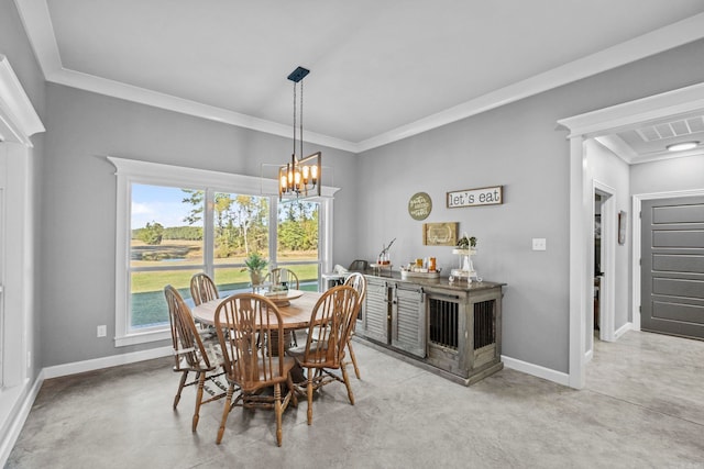
MULTIPOLYGON (((284 303, 284 305, 277 308, 282 314, 284 330, 292 331, 308 327, 312 309, 321 295, 322 293, 317 291, 289 290, 287 298, 277 297, 270 298, 270 300, 275 303, 284 303)), ((194 320, 204 324, 215 325, 216 310, 223 300, 224 298, 218 298, 195 306, 191 310, 194 320)))

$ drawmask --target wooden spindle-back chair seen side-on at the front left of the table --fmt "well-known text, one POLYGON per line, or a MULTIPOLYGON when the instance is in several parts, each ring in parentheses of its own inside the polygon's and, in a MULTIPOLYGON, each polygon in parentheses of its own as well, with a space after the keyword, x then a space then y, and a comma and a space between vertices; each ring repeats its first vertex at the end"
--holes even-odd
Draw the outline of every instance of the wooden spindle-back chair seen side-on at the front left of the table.
POLYGON ((184 302, 183 297, 170 284, 164 287, 164 297, 168 304, 168 319, 172 328, 172 344, 174 346, 174 372, 182 373, 178 390, 174 397, 174 410, 178 406, 180 394, 185 387, 197 386, 196 410, 194 411, 191 429, 198 427, 200 406, 216 401, 226 395, 224 388, 218 381, 223 375, 222 362, 218 359, 215 343, 210 347, 204 344, 200 331, 196 327, 190 309, 184 302), (188 381, 188 375, 195 373, 195 378, 188 381), (207 382, 213 387, 206 386, 207 382), (209 397, 204 399, 204 391, 209 397))

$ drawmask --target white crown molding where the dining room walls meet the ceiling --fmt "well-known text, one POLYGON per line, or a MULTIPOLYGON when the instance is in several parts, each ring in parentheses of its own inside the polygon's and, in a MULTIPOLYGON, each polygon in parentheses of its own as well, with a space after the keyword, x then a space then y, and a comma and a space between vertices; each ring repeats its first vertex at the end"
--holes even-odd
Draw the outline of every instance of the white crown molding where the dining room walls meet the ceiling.
MULTIPOLYGON (((64 69, 46 0, 14 0, 34 53, 47 81, 89 90, 133 102, 223 122, 282 137, 293 127, 237 113, 221 108, 188 101, 152 90, 64 69)), ((362 142, 349 142, 328 135, 306 133, 306 142, 351 153, 362 153, 397 142, 520 99, 580 80, 595 74, 648 57, 704 37, 704 13, 661 27, 596 54, 536 75, 520 82, 486 93, 453 108, 393 129, 362 142)))

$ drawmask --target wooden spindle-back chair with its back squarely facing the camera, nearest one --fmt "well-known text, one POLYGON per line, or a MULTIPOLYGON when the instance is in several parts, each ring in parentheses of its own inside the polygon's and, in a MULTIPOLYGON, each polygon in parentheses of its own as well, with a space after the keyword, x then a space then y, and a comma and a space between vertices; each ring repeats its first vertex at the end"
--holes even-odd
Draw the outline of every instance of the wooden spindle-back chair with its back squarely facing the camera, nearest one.
POLYGON ((282 415, 292 400, 294 405, 298 405, 298 401, 290 378, 296 361, 285 353, 284 324, 278 308, 255 293, 235 294, 218 305, 215 323, 229 383, 216 442, 222 440, 232 409, 242 406, 273 409, 276 444, 282 446, 282 415), (263 392, 266 388, 273 388, 273 395, 263 392), (239 389, 237 397, 235 389, 239 389))

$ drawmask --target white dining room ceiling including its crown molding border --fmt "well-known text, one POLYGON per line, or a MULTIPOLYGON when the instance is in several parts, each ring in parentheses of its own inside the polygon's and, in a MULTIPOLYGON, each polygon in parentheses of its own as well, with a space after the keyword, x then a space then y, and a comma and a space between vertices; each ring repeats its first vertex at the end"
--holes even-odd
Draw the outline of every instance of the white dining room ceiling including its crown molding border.
POLYGON ((309 68, 305 139, 354 153, 704 37, 704 0, 15 3, 47 81, 286 137, 309 68))

